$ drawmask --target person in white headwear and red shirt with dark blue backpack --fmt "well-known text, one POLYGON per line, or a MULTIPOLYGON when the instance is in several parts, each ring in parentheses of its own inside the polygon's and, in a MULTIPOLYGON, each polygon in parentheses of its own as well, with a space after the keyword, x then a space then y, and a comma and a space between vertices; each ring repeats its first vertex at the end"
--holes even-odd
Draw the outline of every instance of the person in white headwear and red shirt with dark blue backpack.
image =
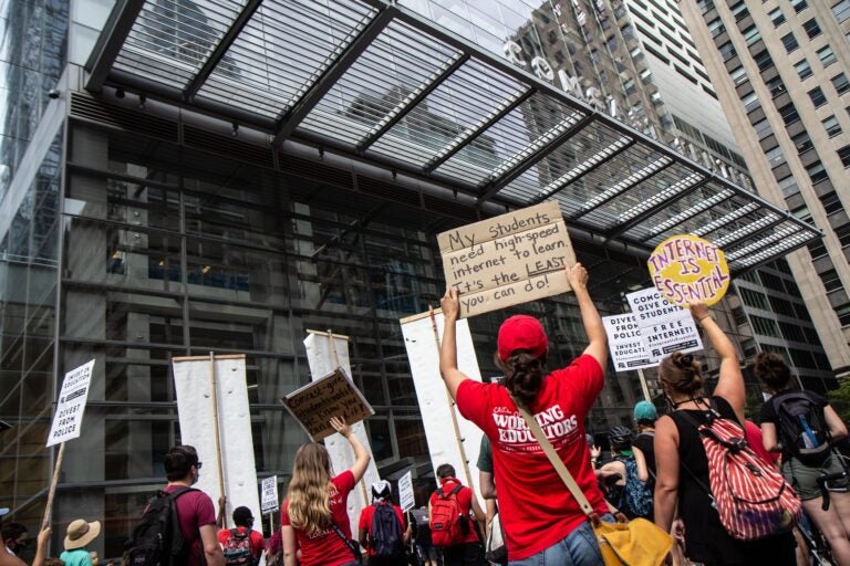
POLYGON ((404 512, 390 499, 390 482, 372 484, 372 505, 360 513, 359 539, 369 554, 369 566, 405 566, 404 547, 411 541, 404 512))

